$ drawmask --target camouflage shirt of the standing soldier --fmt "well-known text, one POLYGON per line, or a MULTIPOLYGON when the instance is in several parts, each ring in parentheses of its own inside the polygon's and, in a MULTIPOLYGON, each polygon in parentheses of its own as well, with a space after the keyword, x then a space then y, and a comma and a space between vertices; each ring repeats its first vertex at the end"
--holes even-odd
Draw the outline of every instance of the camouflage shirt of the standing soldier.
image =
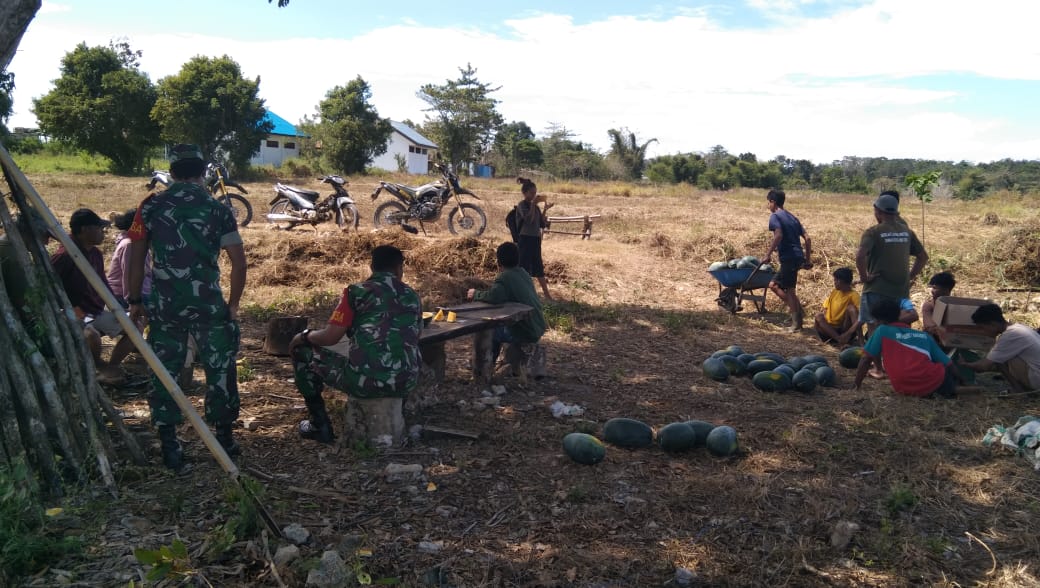
POLYGON ((178 182, 140 203, 127 235, 151 244, 154 316, 202 322, 227 318, 217 260, 220 249, 242 242, 227 206, 202 186, 178 182))

